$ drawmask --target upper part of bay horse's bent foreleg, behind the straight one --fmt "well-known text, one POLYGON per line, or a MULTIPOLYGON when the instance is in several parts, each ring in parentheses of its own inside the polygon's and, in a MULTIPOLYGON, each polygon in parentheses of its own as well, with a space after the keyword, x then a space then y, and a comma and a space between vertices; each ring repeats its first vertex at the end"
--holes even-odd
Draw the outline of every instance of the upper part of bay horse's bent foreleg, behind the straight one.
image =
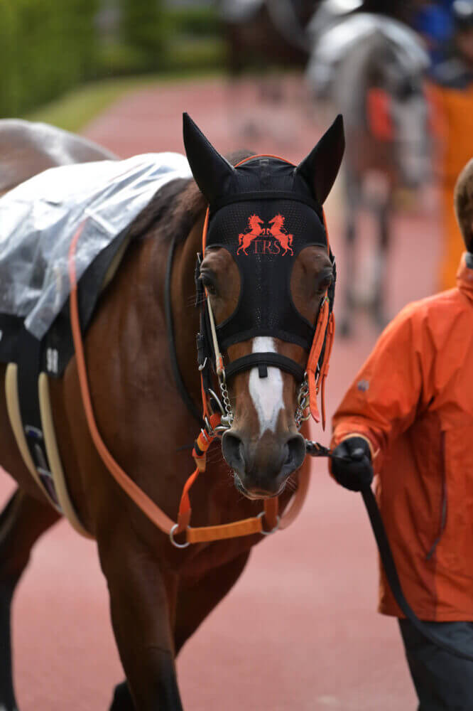
POLYGON ((175 653, 239 579, 249 559, 249 551, 207 572, 190 584, 180 584, 175 609, 175 653))

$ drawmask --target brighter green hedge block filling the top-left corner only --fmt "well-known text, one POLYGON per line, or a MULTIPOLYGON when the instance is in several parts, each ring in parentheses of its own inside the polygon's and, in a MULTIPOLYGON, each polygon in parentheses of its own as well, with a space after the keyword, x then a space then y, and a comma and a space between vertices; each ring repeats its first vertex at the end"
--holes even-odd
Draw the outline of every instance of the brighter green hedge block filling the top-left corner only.
POLYGON ((0 0, 0 116, 94 75, 98 0, 0 0))

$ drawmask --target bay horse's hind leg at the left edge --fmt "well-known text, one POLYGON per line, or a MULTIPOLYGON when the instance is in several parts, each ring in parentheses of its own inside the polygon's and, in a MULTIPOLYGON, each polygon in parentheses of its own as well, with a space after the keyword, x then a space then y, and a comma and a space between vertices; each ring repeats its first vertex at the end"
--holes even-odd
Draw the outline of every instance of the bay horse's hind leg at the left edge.
POLYGON ((11 599, 31 548, 60 515, 17 489, 0 513, 0 709, 16 710, 11 670, 11 599))

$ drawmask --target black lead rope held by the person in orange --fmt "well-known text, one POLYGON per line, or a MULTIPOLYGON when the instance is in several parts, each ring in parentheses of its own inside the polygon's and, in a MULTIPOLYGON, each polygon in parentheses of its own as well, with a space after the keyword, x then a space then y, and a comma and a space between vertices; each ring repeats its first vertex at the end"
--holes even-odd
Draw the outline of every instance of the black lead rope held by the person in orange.
MULTIPOLYGON (((308 440, 306 442, 306 449, 310 456, 327 456, 330 457, 330 459, 346 459, 345 457, 334 456, 328 447, 323 447, 323 445, 318 444, 318 442, 308 440)), ((455 657, 467 659, 467 661, 473 662, 473 656, 471 654, 468 654, 456 646, 445 642, 443 639, 438 637, 435 632, 431 631, 430 628, 415 614, 411 608, 411 605, 407 602, 406 597, 404 596, 396 563, 394 562, 391 545, 389 545, 388 536, 386 534, 386 528, 384 528, 383 519, 381 518, 381 513, 378 503, 376 502, 376 498, 374 497, 374 493, 371 491, 371 486, 367 486, 362 489, 360 493, 363 497, 364 505, 366 506, 366 511, 369 515, 369 521, 371 523, 371 528, 373 529, 374 538, 376 539, 376 545, 378 546, 386 579, 388 580, 393 597, 403 614, 406 616, 408 621, 411 622, 412 626, 415 627, 415 629, 426 639, 428 639, 428 641, 435 644, 435 646, 454 655, 455 657)))

